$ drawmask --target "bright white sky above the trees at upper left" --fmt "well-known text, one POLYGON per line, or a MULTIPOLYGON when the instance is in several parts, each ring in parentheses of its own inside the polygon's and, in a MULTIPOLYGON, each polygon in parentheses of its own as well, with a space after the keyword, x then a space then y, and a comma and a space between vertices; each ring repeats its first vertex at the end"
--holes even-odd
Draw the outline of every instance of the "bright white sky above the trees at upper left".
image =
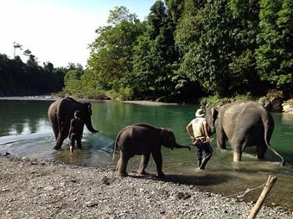
MULTIPOLYGON (((13 58, 13 42, 29 49, 40 65, 87 64, 88 44, 106 25, 110 10, 125 6, 142 21, 156 0, 0 0, 0 53, 13 58)), ((16 49, 23 62, 23 51, 16 49)))

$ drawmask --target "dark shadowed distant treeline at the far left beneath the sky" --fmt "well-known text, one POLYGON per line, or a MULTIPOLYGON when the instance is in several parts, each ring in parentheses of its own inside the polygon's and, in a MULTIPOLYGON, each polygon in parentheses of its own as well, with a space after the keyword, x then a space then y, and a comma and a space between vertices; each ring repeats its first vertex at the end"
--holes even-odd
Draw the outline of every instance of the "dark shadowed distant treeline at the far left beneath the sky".
POLYGON ((10 59, 0 53, 0 96, 51 94, 64 87, 66 69, 54 68, 51 62, 40 67, 34 55, 28 56, 24 63, 19 56, 10 59))

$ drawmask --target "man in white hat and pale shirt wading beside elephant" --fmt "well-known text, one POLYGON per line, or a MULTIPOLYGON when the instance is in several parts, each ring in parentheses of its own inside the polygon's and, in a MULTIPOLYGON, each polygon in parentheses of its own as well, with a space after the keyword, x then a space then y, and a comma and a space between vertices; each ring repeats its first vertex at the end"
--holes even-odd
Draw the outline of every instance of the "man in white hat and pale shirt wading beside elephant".
POLYGON ((192 119, 190 123, 186 126, 187 133, 192 139, 192 144, 196 146, 197 153, 197 165, 198 169, 204 170, 206 164, 212 157, 212 148, 210 147, 210 132, 206 119, 203 117, 205 113, 203 109, 197 109, 195 113, 195 119, 192 119), (193 134, 190 133, 190 128, 192 127, 193 134), (202 159, 203 151, 206 156, 202 159))

